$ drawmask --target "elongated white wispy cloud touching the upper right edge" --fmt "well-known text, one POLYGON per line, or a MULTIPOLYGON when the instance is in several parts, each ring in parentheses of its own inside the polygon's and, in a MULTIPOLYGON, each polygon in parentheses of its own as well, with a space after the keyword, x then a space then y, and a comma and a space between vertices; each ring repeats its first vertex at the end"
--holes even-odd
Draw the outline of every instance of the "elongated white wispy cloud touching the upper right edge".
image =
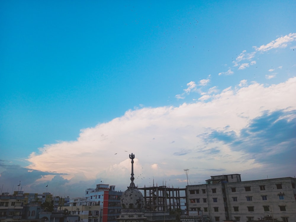
POLYGON ((271 41, 270 43, 262 46, 254 46, 256 51, 259 52, 266 52, 271 49, 276 49, 276 48, 285 48, 287 47, 288 43, 295 41, 296 40, 296 33, 290 33, 289 35, 282 36, 277 38, 274 41, 271 41))

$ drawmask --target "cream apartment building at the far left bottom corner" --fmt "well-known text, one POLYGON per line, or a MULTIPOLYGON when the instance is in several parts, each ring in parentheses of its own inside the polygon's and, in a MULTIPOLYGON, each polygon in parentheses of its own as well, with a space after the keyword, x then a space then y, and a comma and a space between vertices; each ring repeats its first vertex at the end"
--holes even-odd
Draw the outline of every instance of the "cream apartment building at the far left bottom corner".
POLYGON ((0 221, 14 222, 22 218, 24 196, 2 193, 0 196, 0 221))

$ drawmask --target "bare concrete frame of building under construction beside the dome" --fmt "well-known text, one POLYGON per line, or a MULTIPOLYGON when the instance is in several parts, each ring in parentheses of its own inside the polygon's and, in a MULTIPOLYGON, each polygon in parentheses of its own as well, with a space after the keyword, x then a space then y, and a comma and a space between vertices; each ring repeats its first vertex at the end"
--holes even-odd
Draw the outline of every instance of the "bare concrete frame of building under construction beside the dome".
POLYGON ((185 202, 181 200, 186 200, 186 188, 152 186, 138 189, 144 191, 144 208, 147 211, 168 212, 181 210, 181 203, 185 206, 185 202))

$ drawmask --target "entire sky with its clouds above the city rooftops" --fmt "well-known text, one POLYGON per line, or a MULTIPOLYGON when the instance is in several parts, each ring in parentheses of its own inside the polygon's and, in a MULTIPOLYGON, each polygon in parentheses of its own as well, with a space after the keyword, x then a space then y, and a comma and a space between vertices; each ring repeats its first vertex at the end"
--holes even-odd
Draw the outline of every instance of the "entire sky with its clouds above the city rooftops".
POLYGON ((0 184, 123 190, 131 152, 139 186, 295 176, 295 8, 1 1, 0 184))

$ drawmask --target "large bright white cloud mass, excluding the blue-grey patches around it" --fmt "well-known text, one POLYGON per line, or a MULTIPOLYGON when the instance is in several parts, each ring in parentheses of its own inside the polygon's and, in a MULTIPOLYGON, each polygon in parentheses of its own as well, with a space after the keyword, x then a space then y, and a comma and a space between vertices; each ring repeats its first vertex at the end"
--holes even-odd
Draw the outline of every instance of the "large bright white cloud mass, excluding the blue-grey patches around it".
MULTIPOLYGON (((67 173, 68 177, 80 173, 87 179, 109 178, 109 183, 125 187, 130 183, 128 154, 131 152, 137 160, 135 177, 140 174, 145 177, 135 180, 139 186, 149 184, 146 178, 153 176, 175 178, 174 183, 181 183, 178 181, 184 179, 183 169, 198 172, 194 171, 197 160, 205 175, 212 175, 206 169, 221 167, 225 169, 223 173, 232 173, 233 169, 237 173, 262 169, 264 163, 256 163, 246 155, 249 147, 236 151, 221 141, 206 141, 205 135, 213 130, 225 130, 227 126, 227 132, 239 136, 250 120, 263 111, 296 109, 291 96, 296 94, 296 77, 271 86, 252 83, 244 87, 246 80, 240 84, 241 88, 229 87, 212 97, 204 95, 191 104, 128 110, 110 122, 81 130, 75 141, 40 148, 28 158, 31 163, 28 168, 67 173), (206 102, 206 98, 211 100, 206 102), (210 153, 213 150, 216 152, 210 153)), ((264 155, 269 155, 268 151, 264 155)))

